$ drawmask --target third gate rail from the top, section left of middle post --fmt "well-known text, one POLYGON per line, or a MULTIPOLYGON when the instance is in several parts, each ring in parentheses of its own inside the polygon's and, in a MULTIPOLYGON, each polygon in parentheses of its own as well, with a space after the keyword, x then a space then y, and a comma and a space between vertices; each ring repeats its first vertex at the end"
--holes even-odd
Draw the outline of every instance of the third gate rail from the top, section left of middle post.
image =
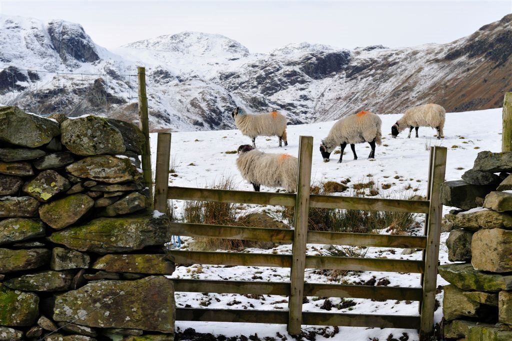
POLYGON ((291 255, 170 250, 176 264, 291 267, 291 255))

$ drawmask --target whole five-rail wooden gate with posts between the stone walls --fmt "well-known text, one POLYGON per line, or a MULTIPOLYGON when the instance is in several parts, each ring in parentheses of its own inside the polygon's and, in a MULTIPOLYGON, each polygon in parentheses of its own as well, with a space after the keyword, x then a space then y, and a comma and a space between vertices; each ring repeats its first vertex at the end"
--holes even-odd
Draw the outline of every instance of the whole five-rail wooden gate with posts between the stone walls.
POLYGON ((220 203, 294 206, 294 230, 241 226, 172 223, 175 235, 291 243, 292 254, 254 254, 173 250, 178 264, 263 266, 290 268, 290 283, 229 280, 174 279, 175 290, 288 296, 288 311, 220 310, 176 308, 177 320, 287 324, 290 334, 300 334, 301 325, 353 326, 418 329, 420 339, 433 331, 442 205, 439 187, 444 182, 446 148, 430 152, 427 199, 399 200, 310 194, 313 137, 301 136, 297 193, 264 193, 168 187, 170 134, 158 134, 155 208, 166 212, 167 199, 220 203), (378 235, 348 232, 308 231, 310 207, 378 210, 425 214, 424 236, 378 235), (306 244, 352 245, 422 249, 422 260, 308 256, 306 244), (311 284, 304 282, 305 269, 343 269, 421 274, 420 288, 311 284), (303 312, 304 296, 397 299, 419 302, 419 316, 303 312))

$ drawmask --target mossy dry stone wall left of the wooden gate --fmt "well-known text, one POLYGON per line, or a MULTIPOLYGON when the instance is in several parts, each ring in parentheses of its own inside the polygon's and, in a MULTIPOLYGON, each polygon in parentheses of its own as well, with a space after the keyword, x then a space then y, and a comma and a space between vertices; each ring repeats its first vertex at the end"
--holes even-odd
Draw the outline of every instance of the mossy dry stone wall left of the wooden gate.
POLYGON ((0 341, 174 339, 143 143, 122 121, 0 107, 0 341))

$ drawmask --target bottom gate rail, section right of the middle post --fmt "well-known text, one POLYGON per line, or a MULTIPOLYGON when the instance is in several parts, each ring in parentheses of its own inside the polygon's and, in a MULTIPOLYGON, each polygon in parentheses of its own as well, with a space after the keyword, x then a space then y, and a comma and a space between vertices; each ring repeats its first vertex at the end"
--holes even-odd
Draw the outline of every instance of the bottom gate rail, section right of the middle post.
POLYGON ((418 316, 303 313, 305 325, 418 329, 418 316))

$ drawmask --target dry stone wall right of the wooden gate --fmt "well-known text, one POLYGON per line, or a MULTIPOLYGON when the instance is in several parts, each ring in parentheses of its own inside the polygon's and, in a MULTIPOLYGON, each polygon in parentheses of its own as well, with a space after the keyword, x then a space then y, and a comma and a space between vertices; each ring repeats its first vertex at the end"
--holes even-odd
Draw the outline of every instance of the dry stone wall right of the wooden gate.
POLYGON ((512 152, 480 152, 462 180, 441 187, 452 231, 439 267, 446 340, 512 340, 512 152))

